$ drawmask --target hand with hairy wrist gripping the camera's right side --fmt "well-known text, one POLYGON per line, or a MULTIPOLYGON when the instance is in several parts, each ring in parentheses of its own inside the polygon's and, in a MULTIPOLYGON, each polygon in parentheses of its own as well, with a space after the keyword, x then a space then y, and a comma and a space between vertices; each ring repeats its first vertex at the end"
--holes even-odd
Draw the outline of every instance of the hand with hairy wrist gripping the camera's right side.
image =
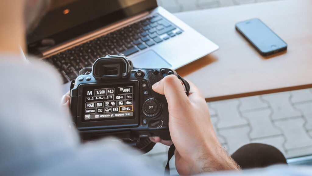
POLYGON ((176 147, 175 164, 179 174, 191 175, 219 170, 239 170, 239 166, 222 148, 213 130, 208 106, 197 87, 190 84, 187 96, 181 81, 168 75, 153 85, 165 95, 169 110, 169 131, 172 141, 150 137, 153 142, 176 147))

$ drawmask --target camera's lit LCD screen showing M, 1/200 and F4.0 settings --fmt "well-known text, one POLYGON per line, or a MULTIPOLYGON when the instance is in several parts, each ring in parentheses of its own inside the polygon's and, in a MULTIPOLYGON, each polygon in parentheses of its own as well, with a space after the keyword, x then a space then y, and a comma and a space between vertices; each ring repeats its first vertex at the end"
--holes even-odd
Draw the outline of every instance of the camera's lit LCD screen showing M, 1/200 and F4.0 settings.
POLYGON ((84 87, 82 121, 135 118, 135 90, 134 83, 84 87))

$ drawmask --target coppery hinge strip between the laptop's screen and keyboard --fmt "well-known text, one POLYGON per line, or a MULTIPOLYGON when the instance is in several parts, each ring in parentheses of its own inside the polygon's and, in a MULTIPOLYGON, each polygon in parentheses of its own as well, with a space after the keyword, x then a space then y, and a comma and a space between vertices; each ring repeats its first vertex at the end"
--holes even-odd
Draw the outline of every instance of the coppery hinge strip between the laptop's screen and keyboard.
POLYGON ((69 49, 69 48, 72 48, 76 45, 79 45, 79 44, 82 44, 82 43, 85 43, 89 40, 92 40, 92 39, 95 39, 95 38, 98 38, 102 35, 105 35, 105 34, 108 34, 108 33, 111 33, 119 28, 123 28, 125 26, 128 26, 129 24, 131 23, 135 23, 137 21, 140 21, 142 18, 144 18, 145 16, 149 15, 150 12, 144 12, 144 13, 140 13, 134 17, 131 17, 131 18, 128 18, 128 19, 125 19, 123 21, 119 21, 119 22, 116 22, 116 23, 113 23, 109 26, 105 26, 103 28, 100 28, 96 31, 93 31, 91 33, 88 33, 88 34, 85 34, 83 36, 80 36, 76 39, 72 39, 66 43, 63 43, 61 45, 58 45, 56 47, 53 47, 49 50, 46 50, 46 51, 43 51, 42 52, 42 55, 41 57, 42 58, 46 58, 50 55, 54 55, 56 53, 59 53, 61 51, 64 51, 66 49, 69 49))

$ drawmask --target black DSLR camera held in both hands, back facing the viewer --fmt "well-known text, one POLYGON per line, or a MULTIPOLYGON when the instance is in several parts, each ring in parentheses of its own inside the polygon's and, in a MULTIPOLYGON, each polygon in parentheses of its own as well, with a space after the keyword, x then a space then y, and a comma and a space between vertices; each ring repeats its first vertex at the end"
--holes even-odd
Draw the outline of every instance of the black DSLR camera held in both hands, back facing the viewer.
POLYGON ((174 70, 137 69, 123 54, 99 58, 71 84, 71 113, 83 140, 104 136, 170 140, 168 103, 152 85, 174 70))

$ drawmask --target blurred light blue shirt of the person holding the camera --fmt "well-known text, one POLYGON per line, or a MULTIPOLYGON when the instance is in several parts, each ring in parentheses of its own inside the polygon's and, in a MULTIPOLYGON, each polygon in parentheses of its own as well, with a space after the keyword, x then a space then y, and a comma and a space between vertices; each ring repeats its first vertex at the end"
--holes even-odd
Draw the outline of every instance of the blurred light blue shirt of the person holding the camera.
MULTIPOLYGON (((41 61, 27 65, 14 57, 0 57, 0 175, 163 175, 119 142, 82 144, 69 127, 68 111, 60 107, 58 73, 41 61)), ((211 174, 304 176, 312 169, 279 166, 211 174)))

